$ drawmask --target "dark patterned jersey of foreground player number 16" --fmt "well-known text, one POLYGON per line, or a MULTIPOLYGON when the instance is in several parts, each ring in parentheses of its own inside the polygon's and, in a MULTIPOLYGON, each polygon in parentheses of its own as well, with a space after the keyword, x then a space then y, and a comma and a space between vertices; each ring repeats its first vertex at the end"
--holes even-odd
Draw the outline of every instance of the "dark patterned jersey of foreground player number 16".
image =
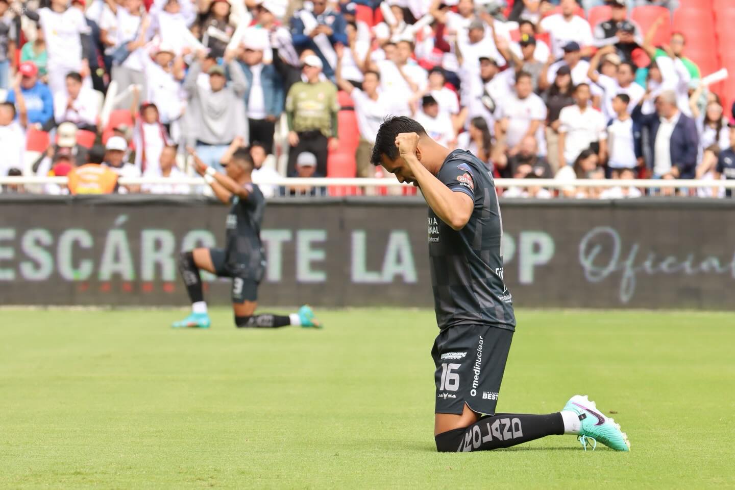
POLYGON ((458 149, 446 157, 437 178, 475 202, 459 231, 429 207, 429 262, 439 328, 493 324, 515 330, 512 296, 503 283, 503 221, 492 175, 474 155, 458 149))

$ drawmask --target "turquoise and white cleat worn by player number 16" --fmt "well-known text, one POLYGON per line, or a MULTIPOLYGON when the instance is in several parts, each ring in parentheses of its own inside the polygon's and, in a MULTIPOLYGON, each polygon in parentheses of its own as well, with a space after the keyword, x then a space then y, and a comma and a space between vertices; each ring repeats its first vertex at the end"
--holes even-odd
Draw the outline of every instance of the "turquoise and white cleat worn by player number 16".
POLYGON ((573 411, 579 417, 579 441, 585 451, 587 444, 592 445, 592 450, 595 450, 598 442, 616 451, 631 450, 631 443, 628 436, 620 430, 620 424, 600 413, 595 402, 590 401, 587 395, 571 397, 567 405, 564 405, 564 410, 573 411))

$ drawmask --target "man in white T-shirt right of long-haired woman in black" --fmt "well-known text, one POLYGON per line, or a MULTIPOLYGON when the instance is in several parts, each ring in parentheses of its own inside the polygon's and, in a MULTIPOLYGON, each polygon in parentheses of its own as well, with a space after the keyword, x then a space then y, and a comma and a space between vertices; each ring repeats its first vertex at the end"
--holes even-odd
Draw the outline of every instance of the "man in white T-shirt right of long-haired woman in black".
POLYGON ((607 154, 605 117, 589 107, 589 85, 581 83, 574 90, 576 104, 564 107, 559 114, 559 162, 572 165, 578 155, 597 143, 599 160, 607 154))

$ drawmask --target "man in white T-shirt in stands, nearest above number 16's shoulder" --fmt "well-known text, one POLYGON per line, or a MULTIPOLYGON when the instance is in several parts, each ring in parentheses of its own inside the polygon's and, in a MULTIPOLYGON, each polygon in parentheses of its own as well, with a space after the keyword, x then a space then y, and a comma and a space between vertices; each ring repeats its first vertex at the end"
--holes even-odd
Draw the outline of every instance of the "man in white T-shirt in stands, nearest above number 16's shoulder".
MULTIPOLYGON (((518 152, 525 136, 542 141, 541 124, 546 119, 546 104, 534 93, 531 75, 521 71, 515 78, 515 93, 501 102, 501 120, 495 123, 495 137, 505 138, 509 155, 518 152)), ((539 149, 545 155, 545 145, 539 144, 539 149)))

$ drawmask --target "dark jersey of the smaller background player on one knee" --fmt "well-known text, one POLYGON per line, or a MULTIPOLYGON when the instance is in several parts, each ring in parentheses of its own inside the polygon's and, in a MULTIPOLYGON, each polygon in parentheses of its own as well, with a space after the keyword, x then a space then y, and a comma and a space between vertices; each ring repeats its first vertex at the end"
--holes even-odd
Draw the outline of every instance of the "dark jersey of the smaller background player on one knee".
POLYGON ((226 263, 233 274, 259 281, 265 271, 265 253, 260 241, 265 198, 257 185, 245 184, 248 196, 233 196, 227 215, 226 263))

